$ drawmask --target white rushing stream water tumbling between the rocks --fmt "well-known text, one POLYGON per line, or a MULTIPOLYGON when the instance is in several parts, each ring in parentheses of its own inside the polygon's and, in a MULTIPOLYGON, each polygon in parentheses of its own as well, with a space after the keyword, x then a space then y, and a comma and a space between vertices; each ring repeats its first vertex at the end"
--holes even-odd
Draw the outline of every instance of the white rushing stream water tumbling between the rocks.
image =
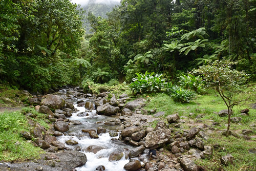
MULTIPOLYGON (((127 144, 122 143, 121 141, 117 140, 120 132, 118 133, 118 136, 111 137, 108 133, 111 130, 115 130, 117 128, 116 125, 104 125, 104 121, 113 120, 117 117, 110 117, 110 116, 104 116, 104 115, 97 115, 96 111, 88 111, 84 107, 78 107, 76 102, 81 99, 75 99, 72 98, 72 102, 74 103, 75 108, 78 110, 78 112, 73 113, 72 117, 70 117, 70 120, 79 120, 82 124, 80 125, 70 125, 70 130, 67 132, 67 134, 61 136, 58 138, 58 141, 65 143, 65 141, 69 139, 73 139, 78 142, 77 145, 67 145, 67 147, 76 149, 79 145, 82 150, 81 152, 86 154, 87 156, 87 163, 81 167, 76 168, 78 171, 92 171, 96 170, 96 168, 100 165, 103 165, 106 170, 115 170, 115 171, 122 171, 123 166, 129 162, 128 159, 125 159, 125 155, 123 158, 119 161, 109 161, 109 156, 114 151, 125 151, 125 149, 132 149, 133 147, 127 144), (87 111, 89 116, 77 116, 78 113, 87 111), (97 123, 95 123, 97 122, 97 123), (102 126, 103 128, 107 129, 107 133, 99 134, 98 139, 92 139, 88 135, 88 133, 82 133, 82 129, 93 129, 97 131, 98 127, 102 126), (86 149, 90 145, 98 145, 102 146, 105 149, 101 149, 98 153, 87 153, 84 152, 84 149, 86 149), (124 149, 124 150, 123 150, 124 149)), ((82 99, 84 102, 91 101, 90 99, 82 99)), ((123 152, 124 153, 124 152, 123 152)))

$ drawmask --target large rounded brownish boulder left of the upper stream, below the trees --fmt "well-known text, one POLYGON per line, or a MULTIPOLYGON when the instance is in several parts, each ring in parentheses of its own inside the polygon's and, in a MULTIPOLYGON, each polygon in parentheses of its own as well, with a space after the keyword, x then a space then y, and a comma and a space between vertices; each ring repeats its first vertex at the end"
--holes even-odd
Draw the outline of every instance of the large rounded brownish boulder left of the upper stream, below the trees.
POLYGON ((65 100, 60 96, 48 94, 46 99, 41 101, 40 105, 46 105, 52 109, 61 109, 65 106, 65 100))

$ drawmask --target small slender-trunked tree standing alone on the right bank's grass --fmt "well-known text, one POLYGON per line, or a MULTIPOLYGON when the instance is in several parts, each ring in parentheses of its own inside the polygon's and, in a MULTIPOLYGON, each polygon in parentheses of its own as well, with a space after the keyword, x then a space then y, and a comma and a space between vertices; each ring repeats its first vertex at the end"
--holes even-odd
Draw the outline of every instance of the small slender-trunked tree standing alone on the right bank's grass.
POLYGON ((248 78, 248 75, 245 74, 245 72, 233 70, 231 66, 234 64, 236 64, 236 62, 216 60, 212 63, 208 63, 206 66, 199 67, 198 70, 194 70, 194 72, 204 75, 206 85, 215 89, 227 106, 227 137, 229 136, 232 107, 241 102, 241 100, 236 99, 235 96, 243 92, 245 89, 245 86, 243 85, 248 78))

